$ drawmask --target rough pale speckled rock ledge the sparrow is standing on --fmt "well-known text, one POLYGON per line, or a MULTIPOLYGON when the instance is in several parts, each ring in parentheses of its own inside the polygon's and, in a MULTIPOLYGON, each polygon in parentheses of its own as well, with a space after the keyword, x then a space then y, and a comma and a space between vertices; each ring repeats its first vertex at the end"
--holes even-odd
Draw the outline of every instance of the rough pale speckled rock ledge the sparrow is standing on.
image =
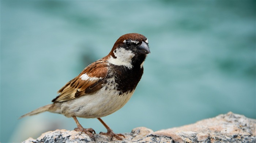
MULTIPOLYGON (((215 118, 204 119, 194 124, 153 132, 138 127, 123 134, 123 141, 108 136, 95 135, 97 143, 256 143, 256 120, 229 112, 215 118)), ((42 134, 37 139, 29 138, 23 143, 85 143, 94 142, 81 132, 55 130, 42 134)))

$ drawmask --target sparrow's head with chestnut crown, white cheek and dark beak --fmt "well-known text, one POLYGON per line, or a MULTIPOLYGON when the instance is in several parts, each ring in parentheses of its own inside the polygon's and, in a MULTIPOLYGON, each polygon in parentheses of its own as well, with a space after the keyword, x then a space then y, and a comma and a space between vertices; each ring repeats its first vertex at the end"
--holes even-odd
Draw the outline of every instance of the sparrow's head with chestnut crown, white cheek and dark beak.
POLYGON ((138 33, 128 33, 117 39, 108 55, 108 61, 129 69, 134 66, 142 68, 148 53, 150 53, 148 39, 138 33))

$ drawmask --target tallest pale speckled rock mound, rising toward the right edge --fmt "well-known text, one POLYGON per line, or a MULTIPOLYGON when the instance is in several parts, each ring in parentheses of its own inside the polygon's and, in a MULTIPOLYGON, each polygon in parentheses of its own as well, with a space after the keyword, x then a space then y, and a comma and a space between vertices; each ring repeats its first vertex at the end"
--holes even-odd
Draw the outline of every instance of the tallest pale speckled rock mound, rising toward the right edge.
POLYGON ((256 120, 232 112, 163 131, 175 132, 192 142, 256 142, 256 120))

